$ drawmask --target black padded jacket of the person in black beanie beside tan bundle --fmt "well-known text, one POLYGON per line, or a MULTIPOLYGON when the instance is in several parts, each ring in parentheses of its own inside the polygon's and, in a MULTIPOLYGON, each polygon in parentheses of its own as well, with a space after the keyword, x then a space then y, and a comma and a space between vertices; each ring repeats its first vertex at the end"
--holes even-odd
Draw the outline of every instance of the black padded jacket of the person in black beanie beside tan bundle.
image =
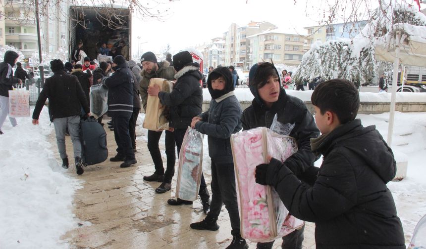
POLYGON ((161 104, 170 107, 169 126, 175 129, 186 129, 192 118, 199 115, 203 108, 203 90, 200 80, 203 74, 198 63, 189 63, 175 75, 173 90, 159 92, 161 104))

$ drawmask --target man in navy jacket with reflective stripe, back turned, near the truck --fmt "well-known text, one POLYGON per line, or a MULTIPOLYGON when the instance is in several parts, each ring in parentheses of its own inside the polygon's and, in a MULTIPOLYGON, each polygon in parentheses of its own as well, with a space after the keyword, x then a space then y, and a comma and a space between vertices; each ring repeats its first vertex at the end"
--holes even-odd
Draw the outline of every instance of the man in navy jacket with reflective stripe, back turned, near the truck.
POLYGON ((102 83, 108 87, 108 116, 114 119, 114 137, 117 143, 117 155, 109 161, 124 161, 120 167, 130 167, 137 163, 129 133, 129 121, 133 113, 133 73, 122 55, 115 56, 112 70, 114 74, 111 77, 102 79, 102 83))

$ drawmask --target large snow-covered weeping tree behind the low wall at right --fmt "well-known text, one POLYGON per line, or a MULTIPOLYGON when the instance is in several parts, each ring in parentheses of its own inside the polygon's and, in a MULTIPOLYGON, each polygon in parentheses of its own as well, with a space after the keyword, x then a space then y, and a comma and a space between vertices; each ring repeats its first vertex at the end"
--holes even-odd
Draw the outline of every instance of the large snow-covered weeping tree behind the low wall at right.
POLYGON ((323 79, 340 78, 358 84, 374 84, 379 70, 391 72, 390 63, 375 60, 374 46, 380 42, 392 43, 396 27, 409 25, 426 28, 425 15, 407 3, 380 0, 379 7, 372 12, 360 35, 352 40, 313 44, 303 56, 293 79, 302 81, 320 76, 323 79))

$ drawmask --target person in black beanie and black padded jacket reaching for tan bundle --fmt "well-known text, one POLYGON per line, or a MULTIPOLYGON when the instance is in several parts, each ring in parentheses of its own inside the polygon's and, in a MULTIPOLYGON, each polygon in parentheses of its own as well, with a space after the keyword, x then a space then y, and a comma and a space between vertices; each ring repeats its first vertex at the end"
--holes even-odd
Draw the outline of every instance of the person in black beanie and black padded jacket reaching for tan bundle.
MULTIPOLYGON (((148 87, 148 94, 158 96, 161 104, 170 107, 169 126, 174 128, 174 139, 179 157, 186 129, 191 125, 192 118, 202 112, 203 90, 200 80, 203 79, 203 74, 200 72, 200 64, 193 62, 193 57, 189 51, 175 54, 173 56, 173 67, 177 72, 174 76, 177 81, 173 85, 173 90, 170 93, 162 92, 158 85, 154 85, 148 87)), ((210 207, 210 195, 203 175, 201 176, 198 194, 201 197, 204 212, 207 213, 210 207)), ((167 203, 169 205, 192 204, 192 202, 181 199, 169 199, 167 203)))

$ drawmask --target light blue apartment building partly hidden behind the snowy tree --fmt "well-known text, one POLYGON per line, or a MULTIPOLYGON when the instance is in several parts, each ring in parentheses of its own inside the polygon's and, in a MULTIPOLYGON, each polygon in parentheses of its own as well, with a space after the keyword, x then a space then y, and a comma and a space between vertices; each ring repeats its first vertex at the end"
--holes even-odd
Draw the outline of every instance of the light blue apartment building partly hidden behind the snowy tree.
POLYGON ((354 38, 366 24, 367 21, 358 21, 306 27, 308 35, 305 38, 307 41, 305 51, 308 51, 314 42, 326 42, 338 38, 354 38))

